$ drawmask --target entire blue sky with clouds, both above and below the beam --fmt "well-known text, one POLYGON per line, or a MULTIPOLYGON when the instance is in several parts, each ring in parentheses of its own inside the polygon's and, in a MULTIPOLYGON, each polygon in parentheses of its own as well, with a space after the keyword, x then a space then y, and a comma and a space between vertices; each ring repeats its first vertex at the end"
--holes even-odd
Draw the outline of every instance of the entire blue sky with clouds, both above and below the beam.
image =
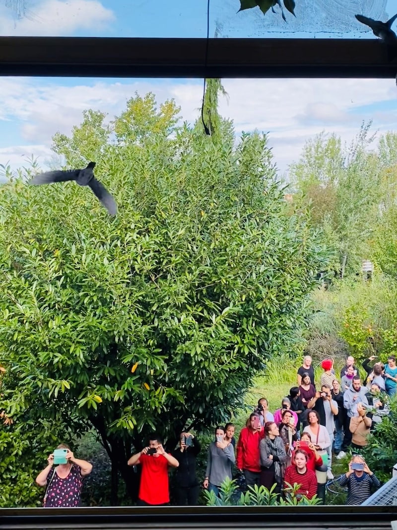
MULTIPOLYGON (((18 17, 0 0, 0 35, 97 37, 204 37, 206 0, 15 0, 18 17)), ((296 19, 286 13, 236 13, 239 0, 211 0, 210 35, 220 37, 375 38, 354 19, 360 12, 386 20, 397 0, 299 0, 296 19)), ((397 31, 397 22, 396 31, 397 31)), ((396 67, 397 68, 397 67, 396 67)), ((269 132, 275 161, 284 172, 306 139, 322 130, 349 142, 363 120, 380 133, 397 128, 394 80, 223 80, 229 94, 220 110, 239 134, 269 132), (248 96, 248 97, 247 97, 248 96)), ((193 122, 201 103, 202 80, 0 77, 0 164, 51 157, 51 136, 69 134, 86 108, 119 114, 135 91, 152 91, 158 103, 175 98, 182 118, 193 122)))

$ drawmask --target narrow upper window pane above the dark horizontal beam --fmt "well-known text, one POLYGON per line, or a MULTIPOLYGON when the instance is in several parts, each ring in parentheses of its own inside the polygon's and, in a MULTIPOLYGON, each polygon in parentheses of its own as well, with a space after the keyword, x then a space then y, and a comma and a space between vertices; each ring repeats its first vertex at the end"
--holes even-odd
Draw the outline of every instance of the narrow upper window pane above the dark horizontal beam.
MULTIPOLYGON (((206 36, 206 0, 4 0, 3 36, 192 37, 206 36)), ((259 7, 238 12, 239 0, 211 0, 210 37, 375 38, 355 14, 386 21, 397 0, 296 0, 265 15, 259 7)))

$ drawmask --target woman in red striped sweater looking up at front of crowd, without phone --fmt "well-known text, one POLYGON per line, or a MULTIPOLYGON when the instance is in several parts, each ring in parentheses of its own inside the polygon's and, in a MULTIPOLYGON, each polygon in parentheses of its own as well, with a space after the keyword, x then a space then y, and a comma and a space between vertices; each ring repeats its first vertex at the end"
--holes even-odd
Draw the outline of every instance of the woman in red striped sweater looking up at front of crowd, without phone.
POLYGON ((314 471, 308 469, 307 462, 308 454, 302 449, 297 449, 295 451, 295 465, 290 465, 285 470, 284 490, 291 494, 291 487, 295 483, 300 484, 299 489, 295 491, 297 498, 312 499, 317 493, 317 477, 314 471))

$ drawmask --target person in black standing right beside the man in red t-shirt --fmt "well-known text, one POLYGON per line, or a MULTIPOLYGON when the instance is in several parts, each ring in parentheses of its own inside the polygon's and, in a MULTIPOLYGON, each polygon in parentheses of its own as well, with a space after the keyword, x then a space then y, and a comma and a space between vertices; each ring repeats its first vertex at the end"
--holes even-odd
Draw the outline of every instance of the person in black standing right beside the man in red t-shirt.
POLYGON ((200 443, 190 432, 181 432, 173 456, 179 462, 176 468, 175 497, 177 506, 196 506, 200 486, 196 476, 196 457, 200 443))

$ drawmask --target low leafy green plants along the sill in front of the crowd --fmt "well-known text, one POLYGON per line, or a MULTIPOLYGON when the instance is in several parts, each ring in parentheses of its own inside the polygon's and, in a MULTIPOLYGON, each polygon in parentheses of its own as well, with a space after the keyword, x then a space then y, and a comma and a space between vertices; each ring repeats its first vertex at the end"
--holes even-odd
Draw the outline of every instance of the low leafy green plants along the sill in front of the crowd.
POLYGON ((205 490, 207 506, 307 506, 321 504, 315 495, 312 499, 297 494, 301 484, 288 484, 285 497, 275 492, 276 484, 268 490, 264 486, 249 486, 245 493, 239 494, 236 480, 225 479, 220 485, 219 497, 213 491, 205 490))

